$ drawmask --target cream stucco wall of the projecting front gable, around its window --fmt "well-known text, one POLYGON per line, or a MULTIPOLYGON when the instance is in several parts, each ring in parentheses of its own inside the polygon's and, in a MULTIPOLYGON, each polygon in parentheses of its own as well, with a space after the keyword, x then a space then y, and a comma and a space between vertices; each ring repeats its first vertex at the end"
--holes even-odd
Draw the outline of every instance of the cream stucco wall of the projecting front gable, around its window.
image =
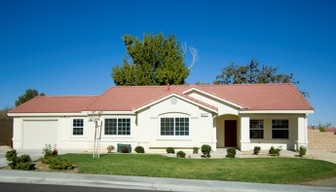
POLYGON ((138 129, 141 130, 137 137, 145 149, 166 147, 200 147, 209 144, 216 147, 216 129, 213 125, 213 115, 206 109, 189 103, 185 100, 171 97, 153 105, 137 114, 138 129), (176 99, 176 104, 171 102, 176 99), (189 117, 188 136, 161 136, 161 117, 189 117))

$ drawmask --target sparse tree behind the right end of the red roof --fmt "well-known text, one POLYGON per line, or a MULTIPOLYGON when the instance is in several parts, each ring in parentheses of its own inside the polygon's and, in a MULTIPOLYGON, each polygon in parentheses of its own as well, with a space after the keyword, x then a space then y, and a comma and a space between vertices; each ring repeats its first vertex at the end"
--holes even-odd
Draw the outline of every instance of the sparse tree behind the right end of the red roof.
MULTIPOLYGON (((257 60, 252 59, 246 65, 231 64, 222 69, 222 72, 216 76, 214 84, 254 84, 254 83, 293 83, 299 84, 294 79, 293 74, 279 74, 277 67, 262 66, 259 67, 257 60)), ((301 91, 306 97, 307 92, 301 91)))

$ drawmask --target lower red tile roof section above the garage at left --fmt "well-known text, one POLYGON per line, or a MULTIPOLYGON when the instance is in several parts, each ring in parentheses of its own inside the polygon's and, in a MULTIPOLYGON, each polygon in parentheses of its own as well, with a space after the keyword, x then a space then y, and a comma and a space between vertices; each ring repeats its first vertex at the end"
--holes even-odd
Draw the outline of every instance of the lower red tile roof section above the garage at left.
POLYGON ((97 96, 37 96, 9 113, 79 113, 97 96))

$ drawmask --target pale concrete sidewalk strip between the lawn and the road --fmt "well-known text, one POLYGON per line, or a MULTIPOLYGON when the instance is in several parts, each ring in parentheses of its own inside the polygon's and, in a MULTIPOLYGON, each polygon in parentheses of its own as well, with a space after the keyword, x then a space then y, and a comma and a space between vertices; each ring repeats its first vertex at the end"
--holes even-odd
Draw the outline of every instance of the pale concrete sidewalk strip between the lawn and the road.
POLYGON ((336 191, 330 187, 312 187, 300 185, 261 184, 246 182, 170 179, 153 177, 67 174, 33 171, 0 170, 0 182, 56 184, 71 186, 90 186, 105 188, 143 189, 157 191, 336 191))

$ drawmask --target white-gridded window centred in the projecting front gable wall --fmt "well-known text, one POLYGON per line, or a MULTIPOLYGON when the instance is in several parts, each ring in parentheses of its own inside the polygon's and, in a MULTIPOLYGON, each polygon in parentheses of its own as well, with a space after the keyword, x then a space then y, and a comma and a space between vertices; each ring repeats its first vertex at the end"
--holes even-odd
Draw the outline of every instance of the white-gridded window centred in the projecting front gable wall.
POLYGON ((189 118, 161 118, 161 135, 189 135, 189 118))

